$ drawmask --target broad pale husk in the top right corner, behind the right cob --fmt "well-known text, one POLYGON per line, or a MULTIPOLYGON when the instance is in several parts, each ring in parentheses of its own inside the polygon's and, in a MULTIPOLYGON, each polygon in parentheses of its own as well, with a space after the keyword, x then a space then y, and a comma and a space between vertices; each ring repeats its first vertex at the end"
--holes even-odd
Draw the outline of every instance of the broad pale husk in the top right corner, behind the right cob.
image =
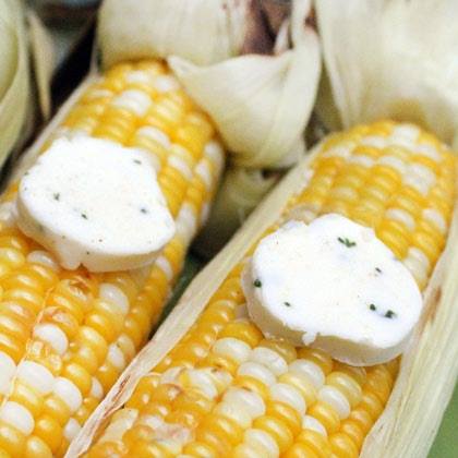
POLYGON ((453 142, 458 128, 455 0, 317 0, 316 13, 329 80, 317 106, 325 121, 332 98, 338 114, 332 126, 390 118, 453 142))

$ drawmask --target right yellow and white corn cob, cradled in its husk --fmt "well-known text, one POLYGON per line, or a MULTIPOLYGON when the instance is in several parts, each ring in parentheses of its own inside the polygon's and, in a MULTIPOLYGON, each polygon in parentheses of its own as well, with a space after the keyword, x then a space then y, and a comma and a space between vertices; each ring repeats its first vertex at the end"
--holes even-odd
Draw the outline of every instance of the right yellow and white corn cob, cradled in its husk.
MULTIPOLYGON (((324 142, 282 220, 334 212, 373 227, 423 289, 447 238, 455 166, 417 126, 357 126, 324 142)), ((233 268, 185 337, 140 379, 88 458, 359 455, 399 359, 353 367, 264 338, 246 316, 243 268, 233 268)))

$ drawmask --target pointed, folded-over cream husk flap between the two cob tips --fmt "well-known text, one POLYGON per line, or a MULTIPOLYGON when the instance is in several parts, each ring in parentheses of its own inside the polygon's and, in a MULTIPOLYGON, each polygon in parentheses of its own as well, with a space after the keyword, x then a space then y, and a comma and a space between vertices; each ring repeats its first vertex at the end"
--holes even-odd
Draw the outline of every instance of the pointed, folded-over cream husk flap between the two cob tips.
POLYGON ((293 2, 292 48, 276 56, 248 55, 198 67, 169 63, 189 94, 216 123, 236 165, 262 168, 294 164, 316 95, 320 48, 305 24, 311 3, 293 2))

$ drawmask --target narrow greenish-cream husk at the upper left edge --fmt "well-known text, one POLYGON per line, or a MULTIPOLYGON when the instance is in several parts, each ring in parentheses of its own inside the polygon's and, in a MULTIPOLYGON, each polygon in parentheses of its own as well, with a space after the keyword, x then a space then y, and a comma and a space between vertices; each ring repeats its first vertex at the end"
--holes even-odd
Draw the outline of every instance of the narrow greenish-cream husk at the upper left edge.
POLYGON ((22 3, 0 0, 0 166, 24 126, 28 103, 28 56, 22 3))

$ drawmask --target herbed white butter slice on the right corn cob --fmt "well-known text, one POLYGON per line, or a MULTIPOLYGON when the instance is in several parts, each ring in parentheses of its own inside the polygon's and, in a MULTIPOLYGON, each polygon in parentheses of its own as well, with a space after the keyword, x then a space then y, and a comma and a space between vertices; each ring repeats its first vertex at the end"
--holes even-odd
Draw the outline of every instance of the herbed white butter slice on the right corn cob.
POLYGON ((242 277, 267 337, 372 365, 400 354, 420 317, 410 272, 372 229, 339 215, 290 221, 264 238, 242 277))

